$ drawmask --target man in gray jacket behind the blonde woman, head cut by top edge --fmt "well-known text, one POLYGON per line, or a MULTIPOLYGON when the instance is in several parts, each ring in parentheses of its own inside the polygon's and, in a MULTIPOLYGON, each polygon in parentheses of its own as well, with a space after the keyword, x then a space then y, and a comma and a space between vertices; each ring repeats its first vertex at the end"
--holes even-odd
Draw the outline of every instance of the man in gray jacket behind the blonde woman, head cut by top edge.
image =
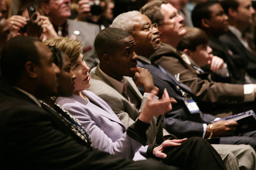
POLYGON ((99 62, 95 55, 94 39, 100 31, 96 24, 68 19, 71 16, 71 0, 39 0, 39 7, 48 16, 59 36, 73 37, 84 44, 83 55, 92 68, 99 62))

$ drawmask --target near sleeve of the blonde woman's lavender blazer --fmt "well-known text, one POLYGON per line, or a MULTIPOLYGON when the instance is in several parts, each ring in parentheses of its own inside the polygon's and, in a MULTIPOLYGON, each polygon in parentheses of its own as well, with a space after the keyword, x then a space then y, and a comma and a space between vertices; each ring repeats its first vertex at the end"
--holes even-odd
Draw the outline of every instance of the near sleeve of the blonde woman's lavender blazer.
MULTIPOLYGON (((111 139, 105 133, 105 131, 108 131, 106 129, 107 127, 102 129, 101 125, 96 124, 90 116, 90 114, 95 113, 91 113, 90 109, 86 106, 79 105, 73 101, 72 103, 66 102, 63 107, 80 120, 82 125, 90 133, 92 145, 101 151, 124 158, 133 158, 134 153, 142 146, 141 143, 129 137, 126 132, 117 140, 111 139)), ((97 116, 101 115, 97 114, 97 116)))

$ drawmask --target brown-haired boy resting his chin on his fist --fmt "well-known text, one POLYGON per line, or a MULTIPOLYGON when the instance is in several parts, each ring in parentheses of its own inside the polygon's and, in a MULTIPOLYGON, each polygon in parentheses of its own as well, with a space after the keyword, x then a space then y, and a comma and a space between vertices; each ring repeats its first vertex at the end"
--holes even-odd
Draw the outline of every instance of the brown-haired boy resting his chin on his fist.
POLYGON ((195 27, 185 27, 187 33, 178 43, 177 50, 182 51, 191 62, 198 65, 205 72, 211 73, 216 82, 230 82, 227 64, 218 56, 213 56, 212 49, 207 45, 208 37, 204 31, 195 27))

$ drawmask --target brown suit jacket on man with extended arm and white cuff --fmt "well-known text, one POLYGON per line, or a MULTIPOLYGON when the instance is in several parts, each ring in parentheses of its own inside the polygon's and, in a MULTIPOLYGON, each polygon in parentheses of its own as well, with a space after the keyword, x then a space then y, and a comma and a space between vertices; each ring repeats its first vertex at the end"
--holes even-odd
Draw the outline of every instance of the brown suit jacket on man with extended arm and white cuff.
POLYGON ((210 76, 198 73, 187 64, 169 45, 161 46, 150 59, 172 75, 179 74, 180 82, 191 89, 204 113, 239 113, 251 107, 242 108, 245 105, 243 85, 212 81, 210 76))

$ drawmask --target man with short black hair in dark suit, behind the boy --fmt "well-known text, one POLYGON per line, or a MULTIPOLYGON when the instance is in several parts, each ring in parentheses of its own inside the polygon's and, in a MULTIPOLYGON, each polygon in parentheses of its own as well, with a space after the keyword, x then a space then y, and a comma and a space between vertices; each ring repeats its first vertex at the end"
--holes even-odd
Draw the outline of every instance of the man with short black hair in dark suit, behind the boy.
POLYGON ((232 51, 220 41, 220 36, 228 32, 228 16, 224 13, 218 1, 206 1, 195 6, 191 14, 194 27, 202 29, 209 37, 209 46, 212 54, 224 59, 230 71, 231 83, 248 84, 253 83, 254 78, 248 76, 246 67, 247 60, 236 60, 241 58, 239 54, 232 51))

